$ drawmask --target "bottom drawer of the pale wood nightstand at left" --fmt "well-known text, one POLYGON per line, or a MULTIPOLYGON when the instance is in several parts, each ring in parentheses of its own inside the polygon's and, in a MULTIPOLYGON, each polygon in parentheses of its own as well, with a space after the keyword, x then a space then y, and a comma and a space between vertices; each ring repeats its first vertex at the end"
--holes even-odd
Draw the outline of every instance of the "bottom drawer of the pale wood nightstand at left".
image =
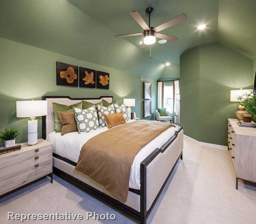
POLYGON ((39 179, 40 177, 44 177, 50 173, 52 173, 52 161, 45 161, 38 167, 34 166, 34 169, 31 169, 26 173, 13 176, 5 181, 0 181, 0 195, 26 185, 27 183, 39 179))

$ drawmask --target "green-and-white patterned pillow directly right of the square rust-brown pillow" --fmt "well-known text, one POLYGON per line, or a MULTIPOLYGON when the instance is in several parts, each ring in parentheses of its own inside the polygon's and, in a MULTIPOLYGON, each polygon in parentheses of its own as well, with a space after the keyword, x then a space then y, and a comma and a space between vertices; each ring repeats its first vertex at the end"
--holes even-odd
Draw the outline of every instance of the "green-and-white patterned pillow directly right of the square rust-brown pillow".
POLYGON ((92 130, 96 130, 99 127, 99 121, 95 106, 92 106, 86 110, 81 110, 78 108, 74 108, 75 118, 78 133, 81 132, 90 132, 92 130))

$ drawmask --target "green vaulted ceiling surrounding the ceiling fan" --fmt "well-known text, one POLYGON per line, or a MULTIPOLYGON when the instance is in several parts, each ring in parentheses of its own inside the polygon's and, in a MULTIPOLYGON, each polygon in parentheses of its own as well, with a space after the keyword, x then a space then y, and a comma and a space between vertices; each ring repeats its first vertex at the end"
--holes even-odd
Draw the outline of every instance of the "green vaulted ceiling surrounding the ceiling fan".
POLYGON ((1 0, 0 37, 54 51, 92 63, 158 79, 163 63, 179 65, 180 55, 192 47, 218 42, 256 59, 256 0, 1 0), (152 26, 182 13, 188 19, 161 33, 176 42, 138 49, 141 32, 129 15, 153 7, 152 26), (196 29, 206 23, 205 30, 196 29))

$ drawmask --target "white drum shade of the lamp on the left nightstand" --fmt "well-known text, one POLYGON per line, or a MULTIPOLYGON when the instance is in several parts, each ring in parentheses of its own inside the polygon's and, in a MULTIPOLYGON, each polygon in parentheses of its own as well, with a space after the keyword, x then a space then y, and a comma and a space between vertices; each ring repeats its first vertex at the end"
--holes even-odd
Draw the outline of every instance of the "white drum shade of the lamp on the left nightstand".
POLYGON ((16 101, 17 118, 40 117, 47 115, 46 100, 16 101))

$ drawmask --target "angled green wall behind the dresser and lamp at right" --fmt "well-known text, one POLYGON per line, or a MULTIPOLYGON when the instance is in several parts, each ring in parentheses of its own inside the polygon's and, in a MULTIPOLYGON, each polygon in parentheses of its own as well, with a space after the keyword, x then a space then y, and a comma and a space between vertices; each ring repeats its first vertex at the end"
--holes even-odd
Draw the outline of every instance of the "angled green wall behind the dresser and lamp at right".
POLYGON ((226 145, 226 120, 238 106, 230 90, 252 88, 253 61, 223 45, 201 45, 180 57, 180 123, 198 141, 226 145))

